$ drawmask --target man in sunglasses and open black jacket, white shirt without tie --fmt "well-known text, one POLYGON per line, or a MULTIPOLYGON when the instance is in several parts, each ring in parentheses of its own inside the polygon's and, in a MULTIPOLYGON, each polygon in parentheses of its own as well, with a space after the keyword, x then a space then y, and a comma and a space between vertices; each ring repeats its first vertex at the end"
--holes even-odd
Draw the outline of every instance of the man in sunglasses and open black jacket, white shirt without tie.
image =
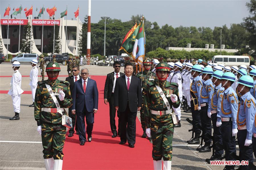
POLYGON ((118 117, 118 133, 116 131, 116 109, 114 106, 114 89, 115 89, 115 83, 116 79, 124 73, 120 73, 120 62, 115 61, 113 64, 114 72, 107 74, 105 87, 104 87, 104 103, 108 104, 109 102, 109 117, 110 117, 110 129, 113 133, 112 138, 115 138, 120 136, 120 125, 121 125, 121 119, 120 119, 120 112, 117 111, 117 117, 118 117))

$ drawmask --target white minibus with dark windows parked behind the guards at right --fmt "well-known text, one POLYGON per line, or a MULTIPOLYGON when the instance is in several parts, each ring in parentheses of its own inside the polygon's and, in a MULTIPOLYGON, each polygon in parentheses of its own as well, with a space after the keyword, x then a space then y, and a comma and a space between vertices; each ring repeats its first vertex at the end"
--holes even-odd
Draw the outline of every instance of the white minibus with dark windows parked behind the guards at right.
POLYGON ((247 68, 250 66, 249 56, 226 56, 216 55, 212 58, 212 63, 224 64, 224 66, 241 66, 244 64, 247 68))

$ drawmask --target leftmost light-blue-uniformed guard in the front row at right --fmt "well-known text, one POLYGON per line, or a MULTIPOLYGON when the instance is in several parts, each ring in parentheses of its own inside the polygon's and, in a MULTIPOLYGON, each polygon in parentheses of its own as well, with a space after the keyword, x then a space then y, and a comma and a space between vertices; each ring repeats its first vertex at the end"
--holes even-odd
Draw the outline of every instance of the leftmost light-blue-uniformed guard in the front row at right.
POLYGON ((193 122, 193 131, 195 133, 195 137, 187 142, 189 144, 199 144, 199 136, 201 130, 198 128, 197 124, 201 126, 200 120, 200 91, 202 89, 202 79, 199 77, 202 69, 200 65, 194 65, 191 69, 191 75, 194 77, 191 86, 190 86, 190 97, 191 97, 191 110, 192 110, 192 122, 193 122))

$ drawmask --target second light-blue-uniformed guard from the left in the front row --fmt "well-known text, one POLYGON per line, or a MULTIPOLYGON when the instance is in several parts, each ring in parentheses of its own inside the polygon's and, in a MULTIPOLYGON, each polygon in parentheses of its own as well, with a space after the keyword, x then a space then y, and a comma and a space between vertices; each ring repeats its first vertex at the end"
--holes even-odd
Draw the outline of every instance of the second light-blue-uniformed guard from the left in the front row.
POLYGON ((204 146, 202 148, 198 148, 199 152, 211 152, 209 148, 212 142, 212 122, 211 118, 208 117, 207 113, 210 113, 210 104, 212 101, 212 95, 214 91, 214 85, 212 84, 213 70, 212 68, 206 67, 202 71, 202 78, 204 80, 202 89, 200 91, 200 118, 201 118, 201 126, 202 126, 202 139, 204 139, 204 146))

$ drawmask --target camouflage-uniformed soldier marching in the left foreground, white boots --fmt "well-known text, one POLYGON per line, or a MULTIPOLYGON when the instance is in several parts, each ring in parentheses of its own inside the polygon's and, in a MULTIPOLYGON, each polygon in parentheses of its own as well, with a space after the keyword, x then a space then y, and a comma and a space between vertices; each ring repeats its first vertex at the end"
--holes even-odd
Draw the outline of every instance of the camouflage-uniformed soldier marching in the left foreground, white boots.
POLYGON ((38 81, 35 95, 34 117, 38 125, 37 131, 42 136, 46 169, 62 169, 66 127, 62 125, 60 113, 65 114, 64 108, 73 104, 69 82, 58 80, 59 72, 60 65, 57 62, 49 62, 46 66, 48 80, 38 81), (46 84, 50 85, 52 90, 48 91, 46 84), (50 93, 56 96, 59 110, 50 93))

